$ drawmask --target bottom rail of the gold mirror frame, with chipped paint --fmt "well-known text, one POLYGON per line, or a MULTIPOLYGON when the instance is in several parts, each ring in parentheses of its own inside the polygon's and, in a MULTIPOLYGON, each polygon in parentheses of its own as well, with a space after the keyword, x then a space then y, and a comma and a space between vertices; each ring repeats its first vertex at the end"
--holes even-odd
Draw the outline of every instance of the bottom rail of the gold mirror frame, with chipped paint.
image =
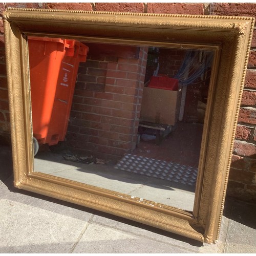
POLYGON ((213 242, 205 239, 204 230, 197 225, 193 215, 180 209, 168 210, 161 208, 161 205, 123 198, 124 195, 110 196, 104 193, 104 189, 95 189, 95 193, 92 193, 91 189, 84 188, 84 184, 79 187, 78 182, 40 173, 30 173, 26 179, 14 181, 14 185, 19 189, 106 212, 200 242, 213 242))

